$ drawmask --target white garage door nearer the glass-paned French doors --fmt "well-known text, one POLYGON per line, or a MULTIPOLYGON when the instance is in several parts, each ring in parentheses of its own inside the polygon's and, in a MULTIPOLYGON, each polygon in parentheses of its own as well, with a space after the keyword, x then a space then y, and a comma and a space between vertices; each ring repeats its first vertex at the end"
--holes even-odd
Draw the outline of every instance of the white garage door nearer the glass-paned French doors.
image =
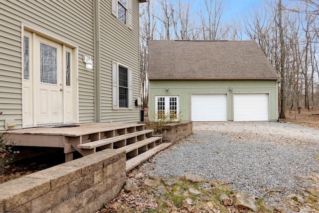
POLYGON ((192 94, 191 95, 192 121, 226 121, 227 96, 226 94, 192 94))

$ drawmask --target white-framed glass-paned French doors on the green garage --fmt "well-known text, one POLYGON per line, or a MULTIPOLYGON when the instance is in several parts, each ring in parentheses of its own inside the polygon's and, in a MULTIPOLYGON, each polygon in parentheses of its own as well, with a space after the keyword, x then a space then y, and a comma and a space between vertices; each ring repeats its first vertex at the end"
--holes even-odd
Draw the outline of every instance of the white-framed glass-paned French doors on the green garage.
POLYGON ((157 120, 177 120, 179 112, 179 97, 178 96, 156 96, 155 97, 155 112, 157 120))

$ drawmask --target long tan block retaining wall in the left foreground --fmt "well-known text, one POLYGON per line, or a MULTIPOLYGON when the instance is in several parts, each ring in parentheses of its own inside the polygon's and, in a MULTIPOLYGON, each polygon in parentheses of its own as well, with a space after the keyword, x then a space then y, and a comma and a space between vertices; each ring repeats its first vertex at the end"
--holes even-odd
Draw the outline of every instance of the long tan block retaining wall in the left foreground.
POLYGON ((126 179, 126 154, 106 149, 0 185, 0 213, 95 213, 126 179))

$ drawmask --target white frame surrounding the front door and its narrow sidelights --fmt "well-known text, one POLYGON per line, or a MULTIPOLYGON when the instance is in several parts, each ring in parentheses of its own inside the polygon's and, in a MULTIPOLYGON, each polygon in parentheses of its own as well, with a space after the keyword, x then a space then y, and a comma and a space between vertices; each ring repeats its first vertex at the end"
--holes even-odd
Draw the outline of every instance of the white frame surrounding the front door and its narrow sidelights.
MULTIPOLYGON (((72 50, 72 61, 71 61, 71 64, 72 64, 72 71, 73 71, 73 74, 72 74, 72 84, 74 85, 74 88, 72 89, 72 113, 73 113, 73 116, 72 116, 72 121, 69 121, 67 122, 66 121, 66 95, 65 95, 65 88, 66 88, 66 85, 65 85, 65 68, 62 69, 62 79, 63 79, 63 95, 62 95, 62 101, 63 101, 63 114, 62 114, 62 123, 65 124, 65 123, 79 123, 79 85, 78 85, 78 79, 79 79, 79 76, 78 76, 78 46, 77 45, 74 45, 72 43, 70 43, 69 41, 66 41, 64 39, 61 39, 61 38, 57 38, 55 37, 54 35, 50 34, 50 33, 47 33, 43 30, 40 30, 34 26, 31 26, 31 25, 28 25, 28 24, 25 24, 25 23, 21 23, 21 99, 22 99, 22 128, 28 128, 28 127, 36 127, 36 126, 43 126, 43 125, 38 125, 37 124, 37 119, 36 119, 36 113, 34 112, 35 110, 35 104, 36 104, 36 99, 34 97, 36 97, 36 91, 34 91, 34 88, 36 88, 36 83, 34 80, 32 80, 31 78, 35 78, 35 76, 33 76, 33 73, 30 73, 30 80, 28 80, 30 82, 30 89, 32 90, 30 92, 30 98, 32 98, 32 101, 30 103, 30 113, 29 115, 25 115, 24 114, 24 110, 25 110, 25 92, 24 92, 24 86, 25 84, 27 84, 27 82, 24 82, 25 79, 24 79, 24 72, 23 72, 23 67, 24 67, 24 59, 23 59, 23 46, 24 46, 24 31, 28 31, 32 34, 32 43, 34 45, 34 41, 35 41, 35 36, 34 35, 37 35, 37 36, 41 36, 41 37, 44 37, 46 39, 49 39, 53 42, 56 42, 56 43, 59 43, 61 44, 62 46, 62 67, 65 67, 66 64, 65 64, 65 55, 64 53, 66 52, 66 50, 72 50), (27 117, 27 116, 30 116, 30 117, 27 117), (28 122, 26 122, 28 121, 28 122), (30 122, 31 121, 31 122, 30 122)), ((31 48, 29 47, 29 51, 31 52, 31 48)), ((31 56, 33 55, 33 53, 31 52, 30 53, 31 56)), ((34 68, 32 68, 32 66, 34 67, 35 64, 33 63, 29 63, 30 65, 30 69, 29 69, 29 72, 31 70, 33 70, 34 68)))

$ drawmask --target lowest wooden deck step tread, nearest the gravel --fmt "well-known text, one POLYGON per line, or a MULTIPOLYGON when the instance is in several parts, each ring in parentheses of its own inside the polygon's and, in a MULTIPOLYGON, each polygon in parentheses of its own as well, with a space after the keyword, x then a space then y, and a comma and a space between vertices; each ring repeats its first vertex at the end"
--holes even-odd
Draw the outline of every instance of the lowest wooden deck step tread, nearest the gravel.
POLYGON ((139 166, 141 163, 147 161, 149 158, 154 156, 156 153, 160 152, 163 149, 169 147, 171 143, 162 143, 159 146, 154 147, 151 150, 148 150, 128 161, 126 161, 126 172, 129 172, 133 168, 139 166))

